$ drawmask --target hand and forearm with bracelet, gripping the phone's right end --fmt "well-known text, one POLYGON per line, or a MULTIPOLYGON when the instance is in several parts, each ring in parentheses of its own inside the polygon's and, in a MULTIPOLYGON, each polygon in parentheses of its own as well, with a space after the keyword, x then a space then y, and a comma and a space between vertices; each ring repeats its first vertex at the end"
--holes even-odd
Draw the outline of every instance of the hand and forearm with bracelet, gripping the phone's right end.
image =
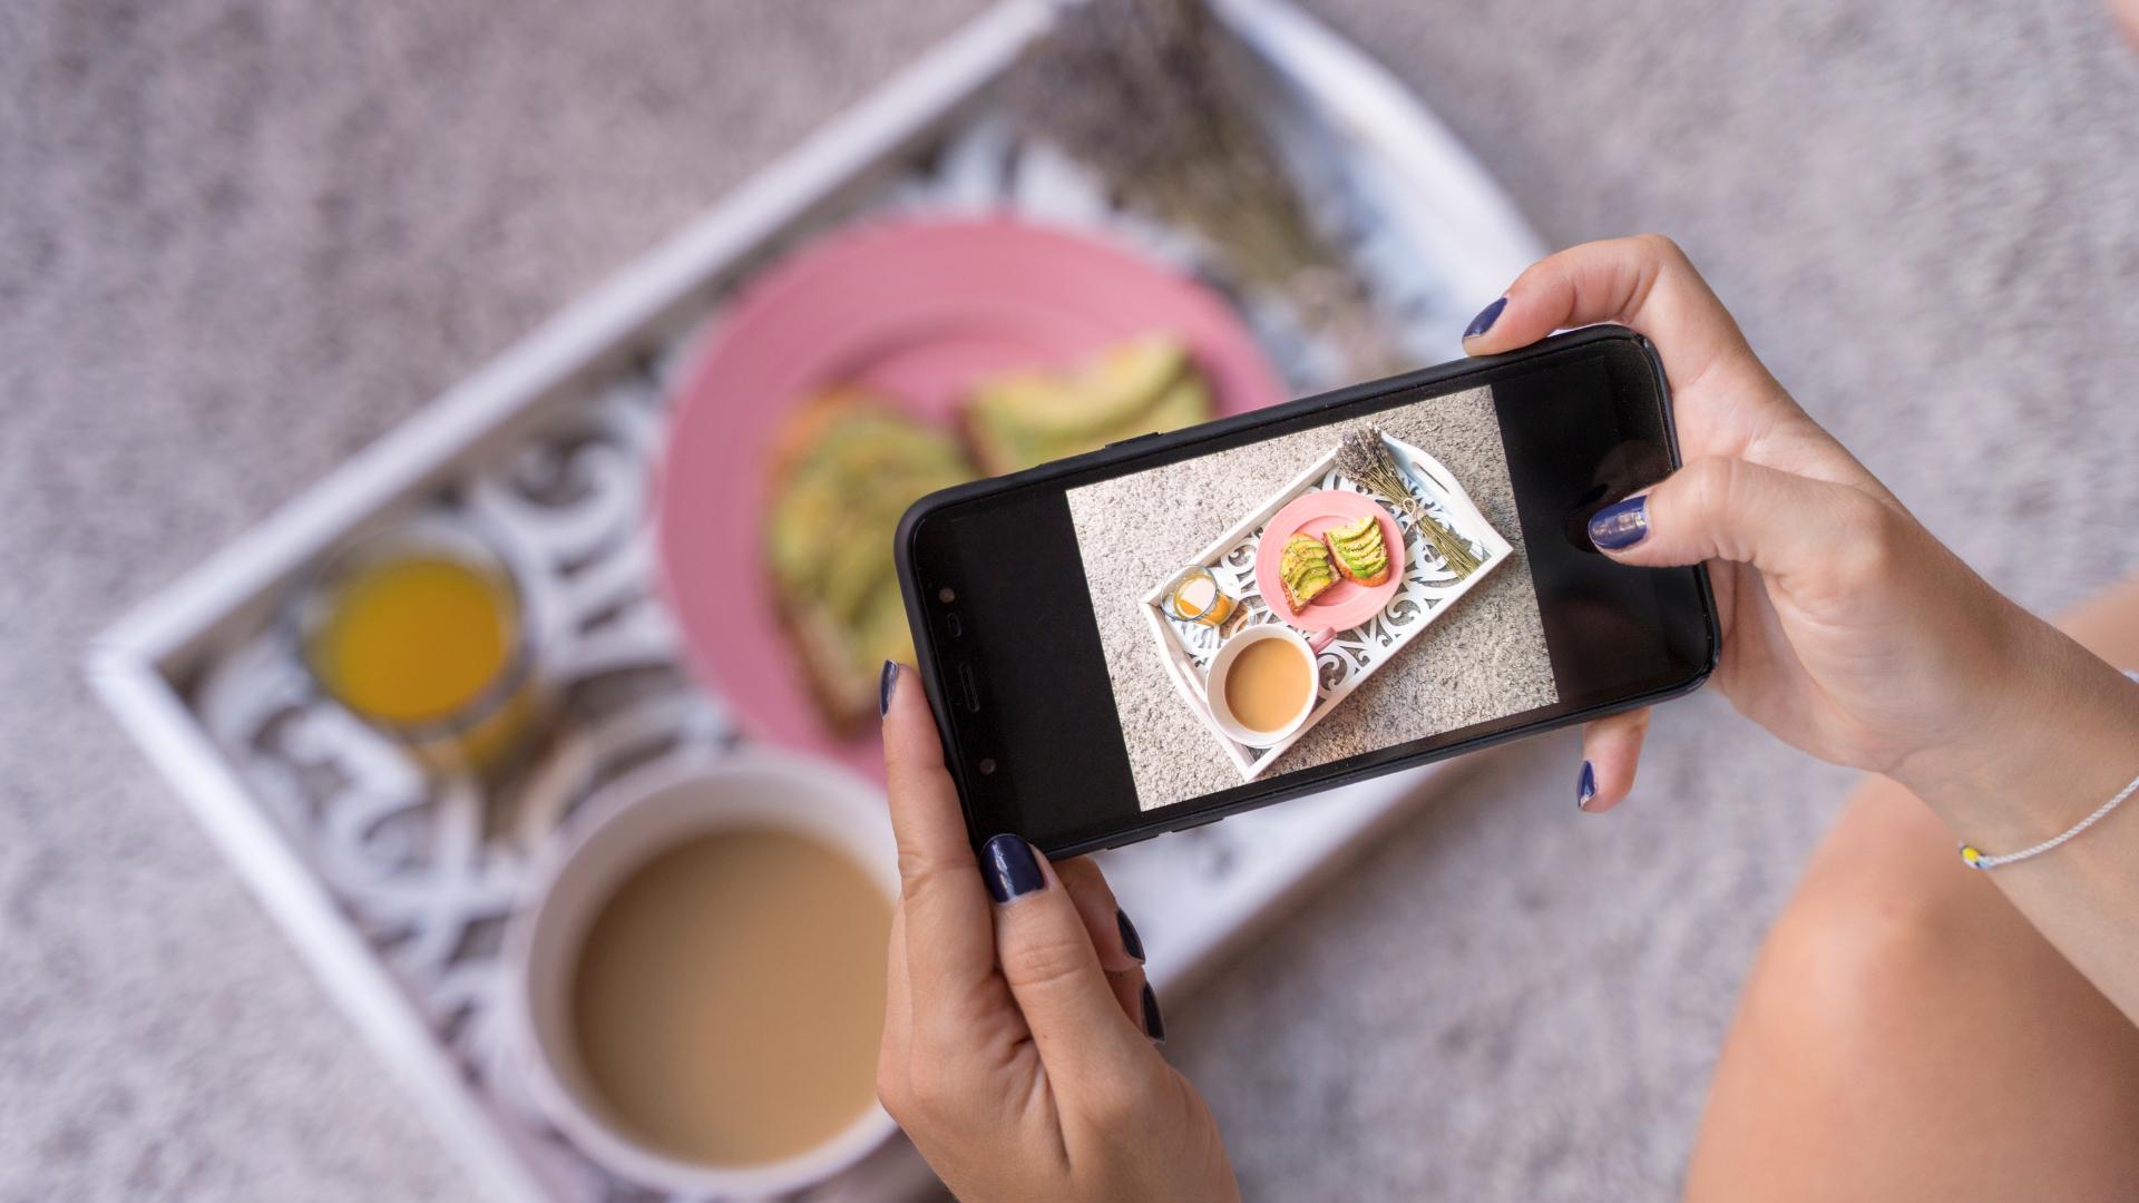
MULTIPOLYGON (((2139 771, 2139 685, 1932 537, 1782 392, 1677 246, 1651 235, 1553 255, 1463 345, 1512 351, 1594 321, 1656 345, 1686 467, 1598 512, 1589 537, 1628 565, 1709 563, 1715 685, 1739 713, 1822 760, 1887 773, 1991 854, 2118 796, 2139 771)), ((1583 809, 1634 786, 1647 726, 1647 711, 1589 724, 1583 809)), ((2139 1023, 2135 820, 2109 816, 1991 878, 2139 1023)))

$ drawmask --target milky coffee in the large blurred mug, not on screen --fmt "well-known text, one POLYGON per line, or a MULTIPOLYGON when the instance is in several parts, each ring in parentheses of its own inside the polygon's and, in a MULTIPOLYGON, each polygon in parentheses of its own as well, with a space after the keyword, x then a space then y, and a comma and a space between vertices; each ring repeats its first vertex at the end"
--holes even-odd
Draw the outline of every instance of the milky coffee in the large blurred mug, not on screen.
POLYGON ((573 1036, 612 1122, 702 1164, 809 1149, 875 1100, 890 903, 779 828, 710 833, 635 869, 573 974, 573 1036))

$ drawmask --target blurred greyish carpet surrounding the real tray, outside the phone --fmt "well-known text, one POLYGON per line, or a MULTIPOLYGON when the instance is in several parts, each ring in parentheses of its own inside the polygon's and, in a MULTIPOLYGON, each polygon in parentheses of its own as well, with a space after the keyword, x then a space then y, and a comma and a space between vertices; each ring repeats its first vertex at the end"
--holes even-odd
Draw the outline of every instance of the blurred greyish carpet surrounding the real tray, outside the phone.
MULTIPOLYGON (((2139 56, 2096 4, 1311 2, 1549 242, 1686 242, 1998 587, 2139 567, 2139 56)), ((81 644, 971 9, 0 4, 0 1197, 471 1194, 81 644)), ((1576 764, 1480 766, 1168 1006, 1251 1197, 1673 1188, 1848 775, 1718 698, 1611 816, 1576 764)))

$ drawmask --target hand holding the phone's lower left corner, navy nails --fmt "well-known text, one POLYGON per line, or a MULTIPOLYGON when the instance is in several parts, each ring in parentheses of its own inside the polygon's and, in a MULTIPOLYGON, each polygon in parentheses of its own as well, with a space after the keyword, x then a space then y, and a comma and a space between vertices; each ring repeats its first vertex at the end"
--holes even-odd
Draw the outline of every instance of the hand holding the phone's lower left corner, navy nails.
POLYGON ((1238 1199, 1202 1096, 1159 1057, 1136 929, 1084 858, 967 843, 928 700, 883 666, 898 875, 877 1094, 967 1203, 1238 1199), (992 899, 992 901, 990 901, 992 899))

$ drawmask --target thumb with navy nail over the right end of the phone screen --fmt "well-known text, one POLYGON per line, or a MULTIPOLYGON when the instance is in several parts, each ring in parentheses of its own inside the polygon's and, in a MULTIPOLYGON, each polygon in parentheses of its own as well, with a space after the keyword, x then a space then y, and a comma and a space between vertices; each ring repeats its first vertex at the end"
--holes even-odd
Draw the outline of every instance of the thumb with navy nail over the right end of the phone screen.
POLYGON ((1621 563, 1748 563, 1788 580, 1831 567, 1880 503, 1855 488, 1750 460, 1701 458, 1589 518, 1589 542, 1621 563))

